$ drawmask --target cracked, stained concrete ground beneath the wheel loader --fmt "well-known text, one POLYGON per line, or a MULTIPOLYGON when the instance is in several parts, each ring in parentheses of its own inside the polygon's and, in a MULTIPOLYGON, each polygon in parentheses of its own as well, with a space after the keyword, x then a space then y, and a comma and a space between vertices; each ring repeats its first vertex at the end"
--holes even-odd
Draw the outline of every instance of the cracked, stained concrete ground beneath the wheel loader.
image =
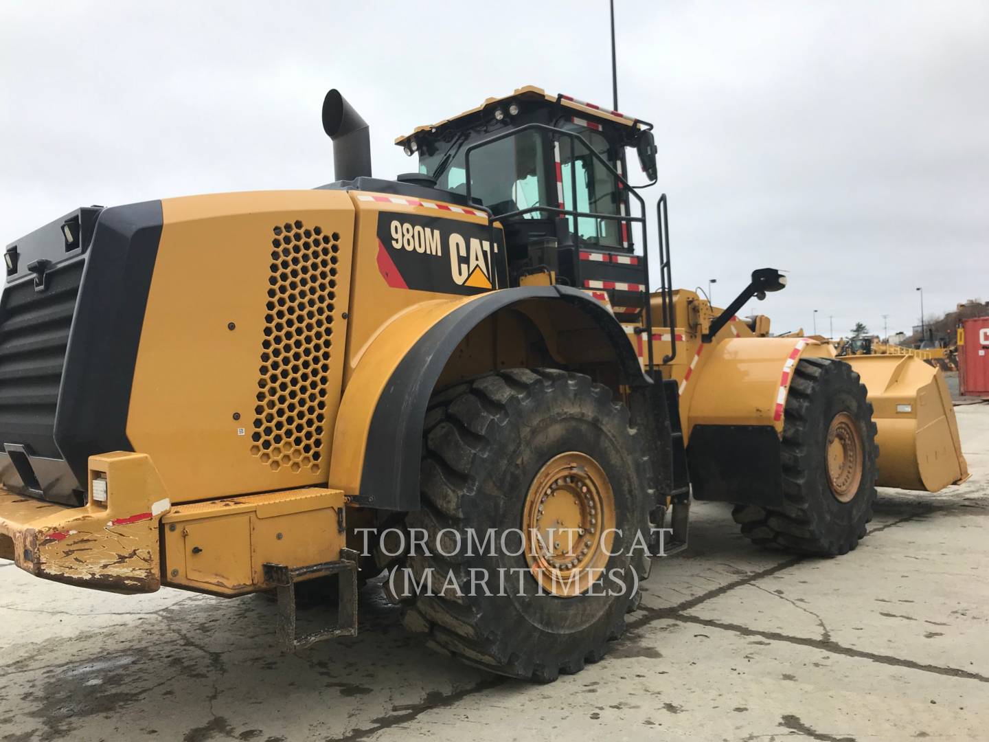
POLYGON ((361 634, 298 655, 274 605, 121 597, 0 564, 0 739, 989 737, 989 405, 956 409, 972 479, 880 491, 834 560, 762 551, 696 508, 608 657, 535 686, 444 659, 364 596, 361 634))

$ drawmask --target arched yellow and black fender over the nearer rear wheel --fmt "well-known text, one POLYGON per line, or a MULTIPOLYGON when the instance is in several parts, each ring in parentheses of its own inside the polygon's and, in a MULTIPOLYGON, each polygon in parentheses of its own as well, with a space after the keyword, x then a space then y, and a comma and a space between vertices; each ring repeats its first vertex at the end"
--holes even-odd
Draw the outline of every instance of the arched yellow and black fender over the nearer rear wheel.
MULTIPOLYGON (((429 398, 461 341, 496 314, 525 315, 562 367, 590 362, 610 366, 618 383, 630 390, 633 414, 640 404, 636 391, 653 387, 621 325, 583 291, 527 286, 423 302, 381 328, 344 389, 333 433, 329 486, 341 490, 348 504, 418 509, 422 426, 429 398)), ((492 361, 484 371, 527 362, 500 355, 492 361)))

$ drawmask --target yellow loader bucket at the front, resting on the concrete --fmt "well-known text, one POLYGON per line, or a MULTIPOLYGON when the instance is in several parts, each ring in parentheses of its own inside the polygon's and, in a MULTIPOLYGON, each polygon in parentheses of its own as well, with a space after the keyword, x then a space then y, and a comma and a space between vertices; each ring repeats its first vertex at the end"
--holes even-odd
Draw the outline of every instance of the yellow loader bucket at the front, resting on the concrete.
POLYGON ((859 355, 842 360, 861 377, 878 428, 880 487, 938 492, 968 479, 944 375, 919 358, 859 355))

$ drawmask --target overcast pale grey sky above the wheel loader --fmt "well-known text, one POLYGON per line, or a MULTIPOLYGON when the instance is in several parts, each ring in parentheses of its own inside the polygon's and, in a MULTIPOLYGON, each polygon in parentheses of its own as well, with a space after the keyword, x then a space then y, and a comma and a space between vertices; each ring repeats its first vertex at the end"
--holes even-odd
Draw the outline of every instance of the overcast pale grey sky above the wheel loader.
MULTIPOLYGON (((989 299, 989 2, 617 0, 619 108, 656 124, 674 285, 753 268, 777 331, 909 331, 989 299)), ((610 102, 607 3, 0 6, 7 243, 80 205, 332 180, 322 97, 395 137, 535 84, 610 102)))

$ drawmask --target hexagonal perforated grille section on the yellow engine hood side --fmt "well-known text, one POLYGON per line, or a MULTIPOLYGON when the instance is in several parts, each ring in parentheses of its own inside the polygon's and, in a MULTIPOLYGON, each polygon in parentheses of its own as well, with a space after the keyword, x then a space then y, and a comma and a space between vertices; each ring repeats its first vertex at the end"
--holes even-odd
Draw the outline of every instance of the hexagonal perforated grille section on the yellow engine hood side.
POLYGON ((340 235, 300 220, 275 227, 251 454, 278 471, 317 472, 340 235))

